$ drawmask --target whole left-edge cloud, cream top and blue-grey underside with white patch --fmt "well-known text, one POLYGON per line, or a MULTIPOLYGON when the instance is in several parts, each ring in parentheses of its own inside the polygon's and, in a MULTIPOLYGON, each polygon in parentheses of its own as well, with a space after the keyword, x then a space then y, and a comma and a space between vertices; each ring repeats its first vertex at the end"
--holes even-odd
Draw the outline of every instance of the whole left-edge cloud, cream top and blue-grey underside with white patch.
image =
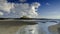
POLYGON ((0 0, 0 17, 8 15, 11 12, 11 8, 14 7, 13 5, 13 3, 7 3, 7 0, 0 0))

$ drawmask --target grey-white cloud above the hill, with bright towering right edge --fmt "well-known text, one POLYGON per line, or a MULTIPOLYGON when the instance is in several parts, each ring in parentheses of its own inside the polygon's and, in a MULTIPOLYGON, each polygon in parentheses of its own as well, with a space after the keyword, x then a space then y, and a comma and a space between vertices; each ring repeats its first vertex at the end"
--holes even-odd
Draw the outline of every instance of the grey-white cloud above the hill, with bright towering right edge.
POLYGON ((28 16, 31 18, 37 18, 38 13, 35 8, 38 8, 39 5, 39 3, 32 3, 31 5, 28 3, 15 4, 12 12, 14 13, 14 16, 28 16))

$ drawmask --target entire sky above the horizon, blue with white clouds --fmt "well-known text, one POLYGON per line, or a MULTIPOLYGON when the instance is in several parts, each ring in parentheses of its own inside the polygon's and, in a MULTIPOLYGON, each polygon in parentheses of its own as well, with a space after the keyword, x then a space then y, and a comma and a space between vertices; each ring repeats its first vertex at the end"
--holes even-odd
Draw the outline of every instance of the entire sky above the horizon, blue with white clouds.
POLYGON ((0 0, 0 18, 60 19, 60 0, 0 0))

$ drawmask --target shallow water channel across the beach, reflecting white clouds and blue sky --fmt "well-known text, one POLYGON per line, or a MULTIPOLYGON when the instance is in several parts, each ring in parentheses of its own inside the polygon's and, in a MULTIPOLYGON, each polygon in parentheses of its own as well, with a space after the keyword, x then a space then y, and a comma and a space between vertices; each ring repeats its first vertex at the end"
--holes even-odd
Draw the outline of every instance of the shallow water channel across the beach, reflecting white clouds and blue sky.
POLYGON ((38 24, 35 25, 26 25, 22 29, 18 30, 17 34, 52 34, 48 30, 48 27, 58 24, 55 22, 46 22, 46 23, 37 22, 37 23, 38 24))

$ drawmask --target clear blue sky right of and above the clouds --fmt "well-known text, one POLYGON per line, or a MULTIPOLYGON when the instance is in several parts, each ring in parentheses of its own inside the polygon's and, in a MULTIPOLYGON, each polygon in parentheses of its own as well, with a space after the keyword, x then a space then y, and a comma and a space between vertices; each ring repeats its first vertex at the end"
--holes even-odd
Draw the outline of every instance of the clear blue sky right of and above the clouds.
MULTIPOLYGON (((7 0, 9 3, 22 3, 19 0, 7 0)), ((23 3, 38 2, 40 6, 38 13, 43 18, 57 18, 60 19, 60 0, 26 0, 23 3)))

